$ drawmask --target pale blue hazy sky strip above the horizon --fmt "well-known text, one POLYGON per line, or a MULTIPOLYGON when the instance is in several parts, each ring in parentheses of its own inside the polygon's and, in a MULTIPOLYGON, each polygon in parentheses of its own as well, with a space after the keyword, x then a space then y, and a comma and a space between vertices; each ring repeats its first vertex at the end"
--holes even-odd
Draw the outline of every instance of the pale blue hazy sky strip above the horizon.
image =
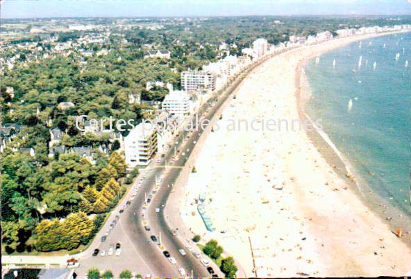
POLYGON ((409 0, 4 0, 2 2, 2 18, 411 15, 409 0))

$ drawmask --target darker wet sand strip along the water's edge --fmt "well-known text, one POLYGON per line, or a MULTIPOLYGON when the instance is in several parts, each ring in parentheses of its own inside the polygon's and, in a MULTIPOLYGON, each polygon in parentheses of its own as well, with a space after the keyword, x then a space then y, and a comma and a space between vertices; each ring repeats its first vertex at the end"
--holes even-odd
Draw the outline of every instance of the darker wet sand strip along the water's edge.
MULTIPOLYGON (((394 34, 387 34, 387 35, 395 35, 394 34)), ((372 36, 367 37, 364 39, 355 40, 350 42, 350 44, 354 42, 360 42, 365 39, 371 39, 373 37, 379 36, 372 36)), ((344 47, 344 46, 339 46, 344 47)), ((330 49, 325 51, 324 53, 328 53, 333 51, 334 49, 330 49)), ((324 156, 324 159, 328 162, 328 164, 335 170, 335 172, 339 175, 340 178, 344 179, 346 183, 351 185, 354 192, 357 194, 358 198, 366 205, 369 209, 373 210, 375 213, 378 214, 380 219, 385 222, 392 231, 395 231, 396 228, 402 228, 403 231, 410 232, 411 231, 411 216, 407 216, 407 212, 405 210, 401 210, 401 205, 393 204, 392 201, 389 201, 387 198, 384 198, 378 195, 375 190, 369 186, 369 183, 362 177, 362 175, 355 169, 353 164, 349 161, 349 159, 344 156, 344 154, 338 150, 338 147, 333 143, 330 139, 328 134, 317 127, 314 121, 308 116, 305 111, 305 107, 309 102, 309 98, 311 96, 312 89, 310 87, 310 82, 308 78, 305 76, 303 68, 305 65, 308 64, 314 57, 307 57, 305 60, 301 61, 296 68, 296 98, 297 98, 297 106, 299 109, 299 117, 301 120, 309 120, 314 127, 314 130, 307 131, 308 137, 311 139, 314 146, 319 150, 319 152, 324 156), (367 195, 367 193, 369 193, 367 195), (387 213, 387 208, 390 208, 389 212, 387 213)), ((401 240, 411 248, 411 237, 408 238, 401 238, 401 240)))

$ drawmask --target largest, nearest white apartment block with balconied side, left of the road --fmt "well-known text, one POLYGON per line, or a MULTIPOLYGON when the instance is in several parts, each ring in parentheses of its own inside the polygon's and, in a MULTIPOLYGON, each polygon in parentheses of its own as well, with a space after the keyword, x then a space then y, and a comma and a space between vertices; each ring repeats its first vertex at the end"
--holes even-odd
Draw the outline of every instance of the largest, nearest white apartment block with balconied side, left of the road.
POLYGON ((129 167, 149 165, 157 152, 157 131, 151 123, 140 123, 124 138, 126 163, 129 167))

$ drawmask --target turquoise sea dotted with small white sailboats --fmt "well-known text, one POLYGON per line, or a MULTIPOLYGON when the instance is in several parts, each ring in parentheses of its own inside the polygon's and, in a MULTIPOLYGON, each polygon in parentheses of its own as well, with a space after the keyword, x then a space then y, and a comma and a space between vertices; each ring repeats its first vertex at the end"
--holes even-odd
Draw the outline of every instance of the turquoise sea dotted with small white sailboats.
POLYGON ((304 68, 312 89, 308 115, 322 119, 366 199, 382 197, 411 216, 411 33, 355 42, 317 62, 304 68))

